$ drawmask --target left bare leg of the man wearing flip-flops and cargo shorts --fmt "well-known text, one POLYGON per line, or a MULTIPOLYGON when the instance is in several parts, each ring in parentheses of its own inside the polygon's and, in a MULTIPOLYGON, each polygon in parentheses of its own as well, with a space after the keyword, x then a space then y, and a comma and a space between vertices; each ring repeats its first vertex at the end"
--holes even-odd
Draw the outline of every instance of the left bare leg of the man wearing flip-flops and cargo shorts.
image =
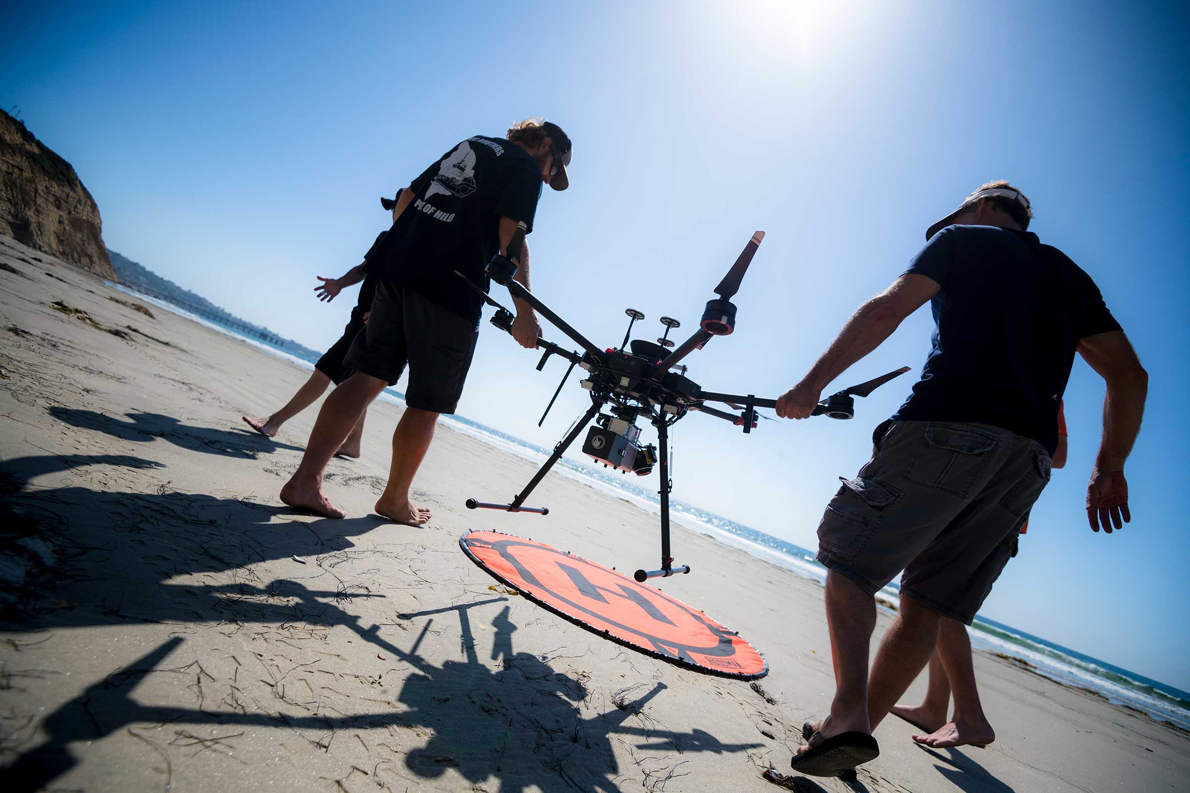
MULTIPOLYGON (((814 729, 823 738, 841 732, 868 732, 868 649, 876 628, 876 598, 843 573, 826 575, 826 621, 834 662, 834 700, 831 715, 814 729)), ((807 751, 802 747, 797 754, 807 751)))

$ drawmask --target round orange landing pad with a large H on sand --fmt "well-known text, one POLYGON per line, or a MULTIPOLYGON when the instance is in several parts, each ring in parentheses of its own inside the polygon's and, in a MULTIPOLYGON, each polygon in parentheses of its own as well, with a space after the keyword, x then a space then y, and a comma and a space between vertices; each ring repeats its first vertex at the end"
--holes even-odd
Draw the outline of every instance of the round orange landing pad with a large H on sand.
POLYGON ((458 543, 496 580, 603 638, 706 674, 753 680, 769 673, 764 656, 734 631, 624 573, 497 531, 471 531, 458 543))

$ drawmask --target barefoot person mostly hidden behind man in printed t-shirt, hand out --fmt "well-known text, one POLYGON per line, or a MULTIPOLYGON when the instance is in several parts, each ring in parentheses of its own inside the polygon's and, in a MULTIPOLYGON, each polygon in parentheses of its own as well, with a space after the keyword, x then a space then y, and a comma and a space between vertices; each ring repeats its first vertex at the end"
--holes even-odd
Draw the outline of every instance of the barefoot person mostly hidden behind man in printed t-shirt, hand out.
MULTIPOLYGON (((402 188, 403 189, 403 188, 402 188)), ((401 197, 401 191, 397 190, 396 197, 401 197)), ((393 212, 396 207, 396 200, 394 199, 381 199, 381 206, 393 212)), ((393 220, 396 220, 396 213, 393 212, 393 220)), ((324 278, 322 276, 317 276, 320 283, 314 287, 314 291, 318 292, 318 298, 324 302, 331 302, 339 294, 340 290, 346 287, 355 285, 363 281, 363 285, 359 287, 359 297, 356 300, 356 304, 351 309, 351 319, 347 321, 347 326, 343 329, 343 335, 339 340, 331 345, 331 348, 322 353, 322 357, 318 359, 314 364, 314 371, 309 376, 298 392, 290 397, 289 402, 284 404, 280 410, 269 416, 242 416, 242 418, 248 423, 249 427, 256 432, 273 438, 278 432, 281 432, 281 426, 287 421, 296 416, 299 413, 314 404, 318 397, 322 396, 326 388, 334 383, 338 385, 343 380, 347 379, 351 375, 351 370, 343 365, 343 358, 347 354, 347 350, 351 348, 351 342, 355 340, 356 334, 359 333, 364 327, 364 322, 368 319, 368 311, 371 309, 372 297, 376 295, 376 279, 364 275, 364 265, 368 263, 368 258, 372 256, 376 251, 380 241, 384 239, 384 234, 388 229, 382 231, 376 235, 376 241, 372 246, 368 248, 364 253, 364 260, 356 266, 347 270, 344 275, 338 278, 324 278)), ((389 384, 392 385, 392 383, 389 384)), ((359 443, 363 438, 364 432, 364 418, 367 418, 368 411, 359 415, 359 420, 356 426, 352 427, 351 434, 347 435, 343 445, 339 446, 336 454, 342 457, 359 457, 359 443)))

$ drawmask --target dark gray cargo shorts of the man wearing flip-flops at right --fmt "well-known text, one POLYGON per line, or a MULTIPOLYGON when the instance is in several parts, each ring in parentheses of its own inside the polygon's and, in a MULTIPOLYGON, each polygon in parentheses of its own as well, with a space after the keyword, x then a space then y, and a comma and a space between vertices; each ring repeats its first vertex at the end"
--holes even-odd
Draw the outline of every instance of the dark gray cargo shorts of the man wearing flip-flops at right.
POLYGON ((971 624, 1050 483, 1050 455, 1016 433, 896 421, 819 523, 818 559, 875 594, 901 594, 971 624))

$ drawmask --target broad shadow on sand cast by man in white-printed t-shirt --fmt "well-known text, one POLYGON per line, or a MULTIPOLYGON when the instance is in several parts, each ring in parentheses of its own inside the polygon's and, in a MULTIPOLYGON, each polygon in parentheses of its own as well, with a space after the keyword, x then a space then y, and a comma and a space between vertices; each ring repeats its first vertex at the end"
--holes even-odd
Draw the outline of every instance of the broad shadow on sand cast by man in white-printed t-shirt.
MULTIPOLYGON (((84 479, 84 470, 99 465, 133 472, 159 467, 152 460, 119 454, 0 461, 0 495, 8 497, 7 508, 32 523, 24 534, 36 534, 57 559, 51 580, 30 583, 26 596, 11 604, 8 611, 19 616, 8 621, 11 629, 218 622, 230 609, 224 592, 171 579, 211 574, 258 587, 263 581, 257 578, 257 562, 363 553, 355 550, 352 537, 388 522, 375 515, 283 520, 293 515, 284 505, 259 503, 251 496, 177 492, 165 484, 157 492, 105 492, 74 484, 84 479), (55 473, 69 478, 55 478, 55 473), (39 486, 30 484, 35 478, 40 478, 39 486), (68 486, 40 486, 55 479, 68 486), (46 611, 48 600, 56 604, 52 612, 46 611)), ((301 568, 299 562, 293 565, 301 568)), ((251 602, 242 609, 251 611, 251 602)))

